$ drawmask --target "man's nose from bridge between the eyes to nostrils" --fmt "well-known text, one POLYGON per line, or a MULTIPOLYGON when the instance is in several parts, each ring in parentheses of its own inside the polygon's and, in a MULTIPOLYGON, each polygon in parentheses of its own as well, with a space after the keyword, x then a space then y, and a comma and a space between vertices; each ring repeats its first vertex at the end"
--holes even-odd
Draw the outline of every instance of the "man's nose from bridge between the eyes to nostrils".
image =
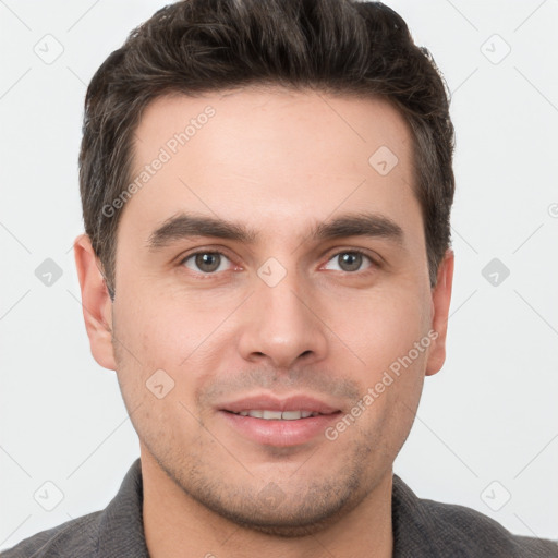
POLYGON ((307 292, 294 267, 287 268, 275 258, 260 266, 250 300, 253 312, 241 336, 245 359, 266 355, 275 366, 287 368, 302 355, 306 360, 311 354, 314 359, 325 355, 324 326, 307 292))

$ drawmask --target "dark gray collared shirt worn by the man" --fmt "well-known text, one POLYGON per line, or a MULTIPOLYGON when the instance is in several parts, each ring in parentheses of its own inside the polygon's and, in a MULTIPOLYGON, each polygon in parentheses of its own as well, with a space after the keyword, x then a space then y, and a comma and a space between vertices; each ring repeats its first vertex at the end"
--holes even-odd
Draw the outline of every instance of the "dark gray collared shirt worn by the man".
MULTIPOLYGON (((142 502, 136 459, 102 511, 37 533, 0 553, 0 558, 148 558, 142 502)), ((397 475, 392 524, 393 558, 558 558, 557 543, 513 535, 463 506, 421 499, 397 475)))

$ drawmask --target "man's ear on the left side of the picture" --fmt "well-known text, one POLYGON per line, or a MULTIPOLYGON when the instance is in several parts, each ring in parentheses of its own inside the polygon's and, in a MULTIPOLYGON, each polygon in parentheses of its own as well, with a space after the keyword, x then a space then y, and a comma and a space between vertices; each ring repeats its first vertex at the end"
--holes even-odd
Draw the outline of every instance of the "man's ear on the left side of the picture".
POLYGON ((74 241, 75 267, 82 290, 82 308, 93 357, 104 368, 117 369, 112 348, 112 301, 101 264, 90 239, 80 234, 74 241))

